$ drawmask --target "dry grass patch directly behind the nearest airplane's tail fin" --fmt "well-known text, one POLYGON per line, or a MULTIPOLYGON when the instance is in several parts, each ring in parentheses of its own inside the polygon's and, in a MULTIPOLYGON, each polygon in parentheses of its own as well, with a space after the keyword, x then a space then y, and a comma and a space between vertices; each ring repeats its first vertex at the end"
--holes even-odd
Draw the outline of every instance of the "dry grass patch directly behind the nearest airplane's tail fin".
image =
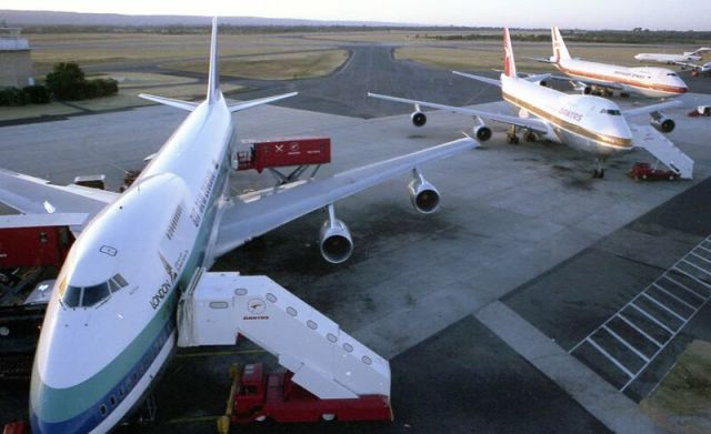
MULTIPOLYGON (((327 75, 348 60, 347 50, 306 51, 288 54, 249 55, 227 59, 220 63, 222 75, 261 79, 291 80, 327 75)), ((207 71, 207 61, 170 62, 162 68, 202 72, 207 71)))

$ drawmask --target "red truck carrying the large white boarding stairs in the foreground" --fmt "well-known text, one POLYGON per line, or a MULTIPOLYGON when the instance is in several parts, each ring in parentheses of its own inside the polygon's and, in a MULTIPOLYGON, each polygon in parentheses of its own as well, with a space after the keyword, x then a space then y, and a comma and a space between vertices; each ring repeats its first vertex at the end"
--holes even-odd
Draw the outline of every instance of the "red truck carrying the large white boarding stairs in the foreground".
POLYGON ((357 398, 320 400, 292 382, 291 372, 266 373, 261 363, 243 369, 233 366, 234 376, 227 415, 218 421, 218 431, 227 433, 229 423, 392 421, 390 400, 382 395, 357 398))

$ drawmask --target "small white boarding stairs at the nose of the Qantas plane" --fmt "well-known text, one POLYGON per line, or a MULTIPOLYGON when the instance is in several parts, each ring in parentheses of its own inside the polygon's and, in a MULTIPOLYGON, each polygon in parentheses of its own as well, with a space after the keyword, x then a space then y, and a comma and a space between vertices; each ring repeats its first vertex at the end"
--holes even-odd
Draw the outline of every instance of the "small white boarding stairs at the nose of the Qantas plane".
POLYGON ((669 139, 651 125, 630 125, 634 147, 649 151, 657 160, 677 173, 679 178, 690 180, 693 176, 693 160, 681 152, 669 139))

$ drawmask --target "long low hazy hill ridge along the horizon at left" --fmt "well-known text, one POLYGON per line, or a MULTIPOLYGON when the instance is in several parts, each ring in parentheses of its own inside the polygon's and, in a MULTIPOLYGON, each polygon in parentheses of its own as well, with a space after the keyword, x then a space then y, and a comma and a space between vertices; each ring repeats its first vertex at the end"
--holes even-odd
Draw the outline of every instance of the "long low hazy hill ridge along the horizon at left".
MULTIPOLYGON (((79 13, 54 11, 0 10, 0 26, 208 26, 210 17, 197 16, 124 16, 119 13, 79 13)), ((418 24, 378 21, 322 21, 292 18, 220 17, 221 24, 229 26, 348 26, 348 27, 415 27, 418 24)))

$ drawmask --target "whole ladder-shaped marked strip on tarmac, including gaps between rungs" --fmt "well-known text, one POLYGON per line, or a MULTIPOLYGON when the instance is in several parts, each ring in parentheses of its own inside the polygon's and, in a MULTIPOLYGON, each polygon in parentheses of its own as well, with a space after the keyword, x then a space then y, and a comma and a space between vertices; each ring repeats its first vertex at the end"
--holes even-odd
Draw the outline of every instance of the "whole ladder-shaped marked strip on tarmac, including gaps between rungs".
POLYGON ((575 355, 624 392, 711 300, 711 236, 574 345, 575 355))

